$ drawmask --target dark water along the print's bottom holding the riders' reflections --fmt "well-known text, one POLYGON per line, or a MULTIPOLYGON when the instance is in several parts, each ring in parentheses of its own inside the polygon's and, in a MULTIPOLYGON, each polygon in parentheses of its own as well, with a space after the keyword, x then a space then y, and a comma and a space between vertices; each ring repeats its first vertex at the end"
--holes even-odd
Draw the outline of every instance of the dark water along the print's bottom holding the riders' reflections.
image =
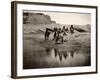
POLYGON ((59 48, 45 48, 32 51, 23 58, 23 68, 52 68, 90 66, 90 53, 82 50, 63 50, 59 48))

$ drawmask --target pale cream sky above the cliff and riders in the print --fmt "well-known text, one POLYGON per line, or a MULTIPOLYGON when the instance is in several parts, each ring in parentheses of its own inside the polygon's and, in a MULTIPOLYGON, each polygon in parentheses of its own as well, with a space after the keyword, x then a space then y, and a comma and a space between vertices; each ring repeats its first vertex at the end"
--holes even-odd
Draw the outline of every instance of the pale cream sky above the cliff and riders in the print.
POLYGON ((51 20, 60 24, 77 24, 86 25, 91 24, 91 15, 86 13, 63 13, 63 12, 37 12, 37 11, 25 11, 33 13, 44 13, 51 16, 51 20))

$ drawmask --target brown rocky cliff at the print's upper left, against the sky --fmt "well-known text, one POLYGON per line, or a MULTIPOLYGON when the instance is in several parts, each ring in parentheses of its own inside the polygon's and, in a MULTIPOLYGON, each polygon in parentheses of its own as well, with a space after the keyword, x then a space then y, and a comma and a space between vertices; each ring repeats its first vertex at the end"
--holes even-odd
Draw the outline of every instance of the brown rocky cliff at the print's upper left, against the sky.
POLYGON ((51 17, 43 13, 23 13, 24 24, 51 24, 56 23, 51 17))

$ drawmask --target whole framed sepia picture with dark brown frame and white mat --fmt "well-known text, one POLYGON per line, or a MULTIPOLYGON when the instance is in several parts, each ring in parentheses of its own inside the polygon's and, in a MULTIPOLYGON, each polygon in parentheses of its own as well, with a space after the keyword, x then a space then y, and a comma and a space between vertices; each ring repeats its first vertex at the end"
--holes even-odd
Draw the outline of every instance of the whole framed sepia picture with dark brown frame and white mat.
POLYGON ((97 6, 13 1, 13 78, 97 73, 97 6))

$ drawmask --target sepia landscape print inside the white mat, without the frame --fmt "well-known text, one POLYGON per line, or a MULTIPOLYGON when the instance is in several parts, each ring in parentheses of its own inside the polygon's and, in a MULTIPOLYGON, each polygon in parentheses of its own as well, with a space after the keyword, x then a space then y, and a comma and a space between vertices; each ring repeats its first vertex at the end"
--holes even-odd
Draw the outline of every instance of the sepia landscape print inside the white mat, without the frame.
POLYGON ((23 69, 91 66, 91 14, 23 11, 23 69))

